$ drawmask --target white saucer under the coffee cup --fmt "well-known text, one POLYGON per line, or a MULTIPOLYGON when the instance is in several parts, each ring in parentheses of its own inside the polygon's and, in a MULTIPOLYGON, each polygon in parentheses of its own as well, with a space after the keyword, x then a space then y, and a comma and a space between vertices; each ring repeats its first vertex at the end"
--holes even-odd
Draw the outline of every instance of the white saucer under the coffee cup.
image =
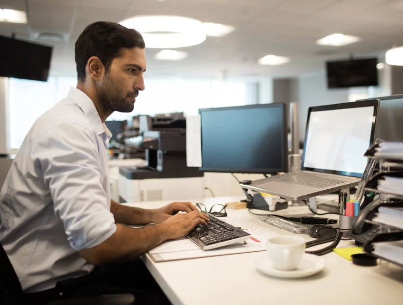
POLYGON ((303 278, 318 273, 325 267, 323 258, 313 254, 304 254, 301 263, 294 270, 278 270, 275 269, 268 257, 258 261, 257 268, 259 271, 280 278, 303 278))

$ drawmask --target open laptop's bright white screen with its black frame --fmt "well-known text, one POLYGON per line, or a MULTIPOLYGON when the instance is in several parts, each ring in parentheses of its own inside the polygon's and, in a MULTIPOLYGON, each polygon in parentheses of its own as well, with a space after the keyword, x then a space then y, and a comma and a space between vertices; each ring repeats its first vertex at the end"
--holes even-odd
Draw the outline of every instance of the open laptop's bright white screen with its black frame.
POLYGON ((379 101, 310 107, 302 170, 361 177, 372 145, 379 101))

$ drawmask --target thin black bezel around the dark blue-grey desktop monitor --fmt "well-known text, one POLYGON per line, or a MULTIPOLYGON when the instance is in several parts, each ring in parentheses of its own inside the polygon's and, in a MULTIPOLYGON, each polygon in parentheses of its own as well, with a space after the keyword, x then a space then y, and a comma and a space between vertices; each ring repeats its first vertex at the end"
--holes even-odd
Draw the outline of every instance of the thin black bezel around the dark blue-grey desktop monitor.
MULTIPOLYGON (((215 167, 199 167, 199 170, 204 172, 222 172, 222 173, 246 173, 246 174, 277 174, 278 172, 288 172, 288 104, 287 103, 270 103, 270 104, 254 104, 254 105, 243 105, 243 106, 230 106, 230 107, 217 107, 217 108, 203 108, 199 109, 199 115, 209 111, 219 111, 219 110, 233 110, 233 109, 253 109, 253 108, 274 108, 281 107, 283 122, 285 124, 282 128, 283 133, 283 152, 285 153, 284 159, 282 160, 281 168, 257 168, 253 170, 247 170, 245 168, 215 168, 215 167)), ((203 135, 202 135, 202 117, 200 118, 200 133, 201 133, 201 149, 203 151, 203 135)), ((202 157, 203 164, 203 157, 202 157)))

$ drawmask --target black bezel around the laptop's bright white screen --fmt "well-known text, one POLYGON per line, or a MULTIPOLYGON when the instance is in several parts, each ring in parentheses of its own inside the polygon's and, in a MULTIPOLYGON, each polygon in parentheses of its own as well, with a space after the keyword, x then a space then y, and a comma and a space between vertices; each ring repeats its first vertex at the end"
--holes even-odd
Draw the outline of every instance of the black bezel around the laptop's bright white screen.
POLYGON ((371 136, 370 136, 369 145, 368 145, 368 147, 370 147, 375 141, 376 115, 377 115, 378 108, 379 108, 379 99, 374 98, 374 99, 365 100, 365 101, 356 101, 356 102, 348 102, 348 103, 340 103, 340 104, 332 104, 332 105, 324 105, 324 106, 314 106, 314 107, 308 108, 308 117, 307 117, 306 129, 305 129, 304 148, 303 148, 303 153, 302 153, 302 158, 301 158, 301 170, 302 171, 311 171, 311 172, 318 172, 318 173, 324 173, 324 174, 334 174, 334 175, 342 175, 342 176, 358 177, 358 178, 362 177, 363 173, 305 167, 304 161, 305 161, 306 144, 307 144, 308 132, 309 132, 309 119, 311 117, 312 112, 363 108, 363 107, 374 107, 374 111, 372 114, 371 136))

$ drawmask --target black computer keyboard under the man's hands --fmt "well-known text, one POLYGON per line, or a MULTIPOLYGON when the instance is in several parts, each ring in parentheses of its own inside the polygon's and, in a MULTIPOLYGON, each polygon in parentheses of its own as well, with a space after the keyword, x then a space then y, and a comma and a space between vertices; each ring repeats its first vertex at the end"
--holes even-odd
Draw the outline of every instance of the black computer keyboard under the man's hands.
POLYGON ((203 250, 216 249, 251 238, 249 233, 220 220, 211 213, 204 213, 210 218, 208 226, 198 225, 186 235, 203 250))

